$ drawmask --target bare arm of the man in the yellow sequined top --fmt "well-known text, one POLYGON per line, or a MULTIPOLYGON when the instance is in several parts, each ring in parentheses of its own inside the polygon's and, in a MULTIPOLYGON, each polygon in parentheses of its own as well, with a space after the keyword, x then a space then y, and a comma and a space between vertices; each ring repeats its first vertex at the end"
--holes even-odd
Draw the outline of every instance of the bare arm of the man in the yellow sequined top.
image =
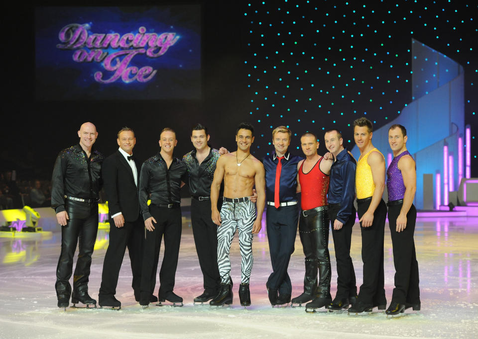
POLYGON ((378 207, 382 199, 383 190, 385 189, 385 160, 378 152, 372 152, 368 156, 367 163, 372 170, 372 179, 375 184, 372 201, 368 206, 367 211, 363 214, 359 221, 362 222, 362 227, 370 227, 373 223, 373 212, 378 207))

